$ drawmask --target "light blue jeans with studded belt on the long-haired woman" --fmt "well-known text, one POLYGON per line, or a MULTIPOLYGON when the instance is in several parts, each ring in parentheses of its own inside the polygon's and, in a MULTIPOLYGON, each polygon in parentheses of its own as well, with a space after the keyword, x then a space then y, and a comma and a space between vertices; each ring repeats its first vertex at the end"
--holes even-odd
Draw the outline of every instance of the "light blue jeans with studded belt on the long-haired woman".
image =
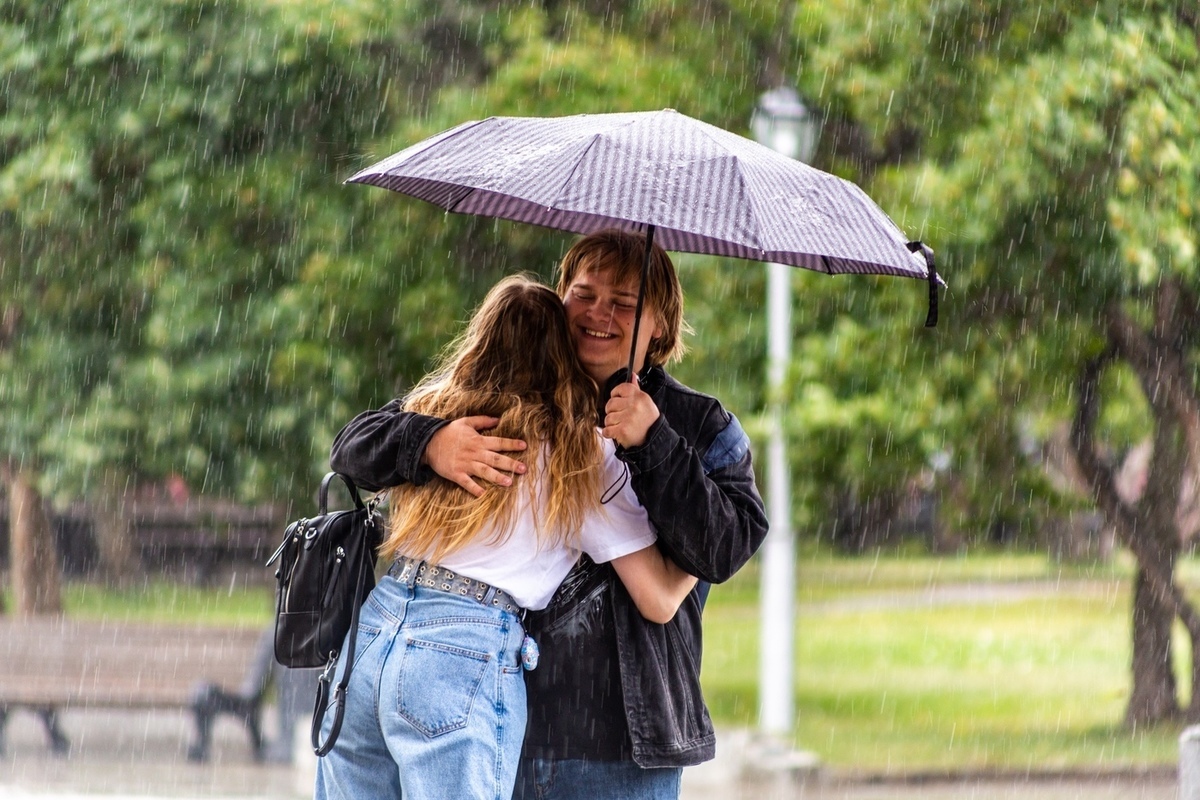
POLYGON ((506 800, 526 728, 523 637, 510 612, 384 576, 362 606, 316 800, 506 800))

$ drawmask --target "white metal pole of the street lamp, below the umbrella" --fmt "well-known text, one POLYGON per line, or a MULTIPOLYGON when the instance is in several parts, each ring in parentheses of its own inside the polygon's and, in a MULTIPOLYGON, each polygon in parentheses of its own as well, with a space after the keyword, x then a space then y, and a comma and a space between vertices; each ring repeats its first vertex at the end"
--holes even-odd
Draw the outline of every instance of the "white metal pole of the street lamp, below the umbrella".
POLYGON ((770 533, 762 553, 762 620, 758 662, 758 726, 785 735, 794 716, 792 675, 796 620, 796 545, 792 535, 792 482, 784 431, 784 393, 792 359, 792 267, 767 265, 767 517, 770 533))

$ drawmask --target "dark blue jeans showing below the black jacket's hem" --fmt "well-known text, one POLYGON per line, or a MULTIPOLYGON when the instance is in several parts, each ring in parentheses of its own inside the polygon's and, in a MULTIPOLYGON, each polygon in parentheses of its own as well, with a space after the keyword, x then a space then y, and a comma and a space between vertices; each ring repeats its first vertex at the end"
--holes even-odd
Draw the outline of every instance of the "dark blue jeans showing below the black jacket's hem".
POLYGON ((522 758, 514 800, 677 800, 683 769, 522 758))

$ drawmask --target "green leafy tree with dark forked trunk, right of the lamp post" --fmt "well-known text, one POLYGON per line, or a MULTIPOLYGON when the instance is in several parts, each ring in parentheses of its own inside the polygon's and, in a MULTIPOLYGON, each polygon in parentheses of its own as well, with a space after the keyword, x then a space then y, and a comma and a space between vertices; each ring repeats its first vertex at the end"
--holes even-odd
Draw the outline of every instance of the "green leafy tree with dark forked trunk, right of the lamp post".
POLYGON ((1200 630, 1170 582, 1184 455, 1200 467, 1194 8, 802 5, 835 157, 923 229, 952 284, 940 335, 896 363, 898 395, 937 393, 965 519, 997 495, 1027 506, 1018 487, 1042 465, 1022 434, 1073 426, 1084 497, 1139 559, 1128 716, 1170 716, 1171 616, 1200 630), (1127 371, 1102 380, 1108 363, 1127 371), (1114 458, 1150 437, 1132 501, 1114 458))

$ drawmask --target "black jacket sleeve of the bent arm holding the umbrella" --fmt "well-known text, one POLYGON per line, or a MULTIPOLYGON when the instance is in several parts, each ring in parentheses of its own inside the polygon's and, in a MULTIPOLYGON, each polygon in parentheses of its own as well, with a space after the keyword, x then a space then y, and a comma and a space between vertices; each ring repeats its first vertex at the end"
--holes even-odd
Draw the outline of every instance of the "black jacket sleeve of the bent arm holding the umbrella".
MULTIPOLYGON (((620 449, 634 491, 680 567, 708 583, 728 581, 767 536, 767 511, 754 481, 750 440, 737 417, 715 407, 720 433, 701 455, 665 416, 640 447, 620 449)), ((712 428, 709 428, 712 429, 712 428)))

